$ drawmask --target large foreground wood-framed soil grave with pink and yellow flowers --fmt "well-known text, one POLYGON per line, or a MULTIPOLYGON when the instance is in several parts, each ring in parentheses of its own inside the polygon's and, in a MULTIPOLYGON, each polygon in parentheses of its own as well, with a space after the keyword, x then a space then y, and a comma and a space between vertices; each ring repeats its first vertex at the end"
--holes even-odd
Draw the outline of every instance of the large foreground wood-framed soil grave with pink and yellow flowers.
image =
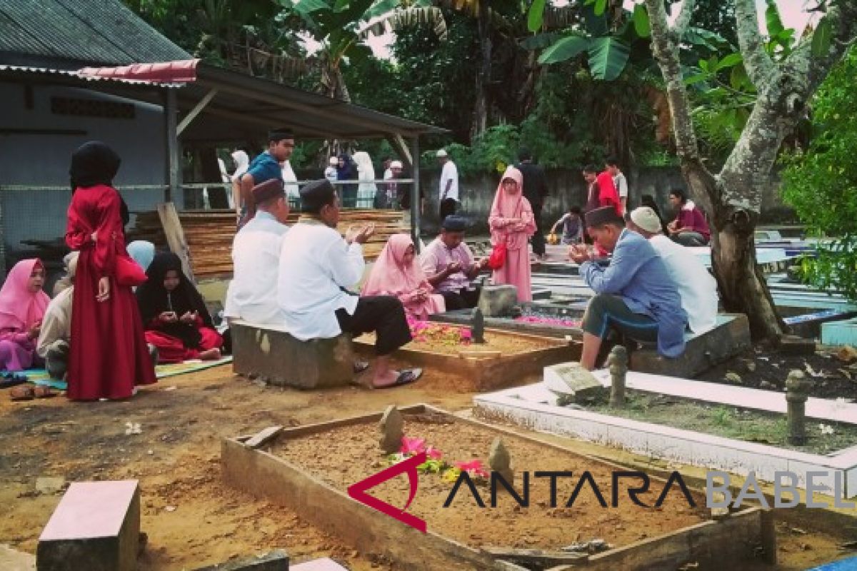
MULTIPOLYGON (((473 455, 477 460, 484 459, 493 447, 494 460, 502 468, 511 464, 514 470, 566 469, 574 473, 585 470, 593 474, 596 485, 610 485, 609 474, 623 470, 608 461, 428 405, 405 407, 400 412, 405 418, 405 433, 411 436, 403 438, 403 446, 407 444, 417 454, 417 445, 428 443, 436 447, 437 456, 432 457, 441 457, 444 463, 446 459, 450 463, 468 460, 473 455), (505 452, 497 443, 498 437, 502 438, 505 452), (511 456, 511 463, 506 456, 511 456)), ((573 568, 591 571, 679 568, 688 563, 733 564, 734 568, 740 568, 742 562, 754 558, 776 560, 770 512, 741 509, 712 520, 707 509, 688 508, 686 498, 677 491, 665 496, 664 509, 640 507, 630 500, 620 503, 610 509, 608 526, 596 523, 599 518, 603 520, 604 512, 594 502, 581 501, 572 506, 566 503, 564 507, 550 509, 546 503, 536 504, 533 498, 530 509, 522 510, 518 509, 518 501, 500 488, 496 503, 492 500, 491 507, 480 509, 472 492, 464 491, 467 485, 461 485, 462 491, 450 508, 440 509, 452 490, 452 481, 446 479, 446 472, 442 478, 440 472, 431 470, 418 473, 414 462, 420 460, 418 454, 396 456, 393 460, 382 455, 377 448, 380 419, 381 413, 377 413, 287 428, 266 451, 245 446, 248 437, 227 438, 221 448, 225 482, 305 514, 310 523, 370 558, 381 557, 413 571, 439 568, 525 571, 543 569, 546 562, 573 564, 573 568), (391 513, 398 516, 382 513, 346 494, 356 483, 363 485, 364 479, 383 476, 384 467, 392 467, 396 462, 403 462, 397 473, 405 472, 407 479, 389 474, 378 485, 364 489, 369 490, 376 503, 387 504, 393 510, 391 513), (416 490, 409 486, 412 475, 417 478, 416 490), (416 492, 410 495, 410 500, 409 491, 416 492), (401 507, 403 504, 407 511, 401 507), (403 525, 399 517, 405 515, 423 521, 426 529, 416 529, 413 523, 403 525), (596 526, 589 533, 598 533, 596 537, 605 550, 594 553, 562 550, 563 546, 580 540, 575 537, 581 529, 591 529, 584 524, 596 526)), ((422 450, 426 452, 425 448, 422 450)), ((487 484, 483 483, 487 480, 475 464, 479 462, 467 462, 468 467, 461 469, 473 470, 472 478, 476 481, 473 490, 486 498, 487 504, 489 494, 487 484)), ((462 480, 460 473, 453 476, 459 481, 466 480, 462 480)), ((520 489, 528 479, 517 473, 514 481, 520 489)), ((665 485, 665 480, 652 477, 652 490, 644 492, 641 499, 650 503, 665 485)), ((549 495, 547 485, 542 488, 537 493, 549 495)), ((573 482, 558 484, 563 502, 572 488, 573 482)), ((620 493, 627 499, 624 489, 620 493)), ((697 498, 697 506, 704 506, 701 491, 689 493, 697 498)), ((589 539, 589 533, 584 539, 589 539)))

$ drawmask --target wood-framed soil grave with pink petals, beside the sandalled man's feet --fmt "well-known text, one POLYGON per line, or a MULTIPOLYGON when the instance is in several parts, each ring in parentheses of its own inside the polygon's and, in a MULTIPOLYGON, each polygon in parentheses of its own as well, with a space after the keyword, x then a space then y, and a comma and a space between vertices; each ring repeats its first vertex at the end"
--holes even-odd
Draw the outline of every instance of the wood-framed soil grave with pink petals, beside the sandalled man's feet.
MULTIPOLYGON (((466 310, 472 316, 472 310, 466 310)), ((489 318, 486 318, 486 324, 489 318)), ((439 336, 458 338, 469 328, 428 322, 430 327, 446 328, 439 336)), ((375 335, 354 339, 358 354, 369 359, 375 355, 375 335)), ((539 374, 544 366, 580 358, 580 344, 566 339, 526 335, 512 331, 485 330, 485 343, 460 344, 448 338, 419 335, 393 353, 401 366, 421 366, 443 373, 452 388, 464 392, 495 390, 512 386, 522 378, 539 374)))

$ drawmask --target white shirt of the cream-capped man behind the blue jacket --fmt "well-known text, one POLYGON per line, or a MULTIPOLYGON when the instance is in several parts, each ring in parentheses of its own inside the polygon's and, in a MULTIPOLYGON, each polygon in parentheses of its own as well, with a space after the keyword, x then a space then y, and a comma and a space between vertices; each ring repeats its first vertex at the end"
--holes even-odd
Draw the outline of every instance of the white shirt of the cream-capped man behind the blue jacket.
POLYGON ((717 324, 717 283, 708 269, 691 251, 659 234, 649 239, 663 259, 687 312, 687 323, 694 333, 704 333, 717 324))

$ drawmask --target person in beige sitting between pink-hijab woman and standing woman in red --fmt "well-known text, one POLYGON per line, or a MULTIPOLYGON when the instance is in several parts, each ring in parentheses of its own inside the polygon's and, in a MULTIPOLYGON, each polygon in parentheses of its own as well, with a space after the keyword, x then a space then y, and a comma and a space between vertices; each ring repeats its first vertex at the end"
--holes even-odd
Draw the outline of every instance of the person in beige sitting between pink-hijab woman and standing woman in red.
POLYGON ((71 303, 75 294, 75 270, 80 252, 69 253, 64 259, 66 275, 54 286, 54 299, 45 309, 36 354, 45 360, 45 369, 52 379, 65 378, 69 366, 71 340, 71 303))

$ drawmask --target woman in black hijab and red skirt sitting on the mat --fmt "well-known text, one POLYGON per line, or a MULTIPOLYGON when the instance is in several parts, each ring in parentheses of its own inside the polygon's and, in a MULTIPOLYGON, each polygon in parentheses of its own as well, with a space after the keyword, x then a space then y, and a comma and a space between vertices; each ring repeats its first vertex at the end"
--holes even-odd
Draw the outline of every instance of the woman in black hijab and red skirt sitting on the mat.
POLYGON ((214 330, 202 296, 182 272, 174 253, 155 255, 148 281, 137 288, 146 342, 158 348, 160 363, 220 359, 223 338, 214 330))

